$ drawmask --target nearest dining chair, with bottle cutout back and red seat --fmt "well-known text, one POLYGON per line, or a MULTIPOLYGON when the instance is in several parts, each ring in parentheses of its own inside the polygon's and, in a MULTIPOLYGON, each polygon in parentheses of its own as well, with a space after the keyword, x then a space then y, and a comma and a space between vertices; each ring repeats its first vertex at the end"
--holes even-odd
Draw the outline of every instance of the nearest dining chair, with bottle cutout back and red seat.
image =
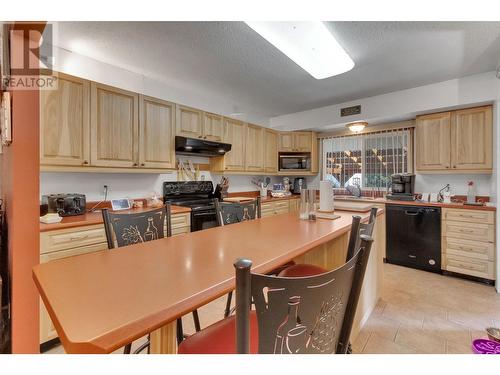
POLYGON ((250 260, 236 260, 236 315, 188 337, 178 353, 345 354, 372 242, 361 235, 344 265, 302 278, 251 273, 250 260))

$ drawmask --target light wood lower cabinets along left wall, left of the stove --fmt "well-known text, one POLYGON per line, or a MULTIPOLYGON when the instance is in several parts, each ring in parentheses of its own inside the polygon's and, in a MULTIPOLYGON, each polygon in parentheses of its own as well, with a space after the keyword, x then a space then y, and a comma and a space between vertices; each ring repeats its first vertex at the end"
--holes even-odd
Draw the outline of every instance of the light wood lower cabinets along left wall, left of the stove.
MULTIPOLYGON (((165 228, 166 230, 166 228, 165 228)), ((172 235, 191 231, 189 212, 172 214, 172 235)), ((40 263, 107 250, 103 224, 53 230, 40 233, 40 263)), ((40 344, 55 339, 57 332, 40 299, 40 344)))

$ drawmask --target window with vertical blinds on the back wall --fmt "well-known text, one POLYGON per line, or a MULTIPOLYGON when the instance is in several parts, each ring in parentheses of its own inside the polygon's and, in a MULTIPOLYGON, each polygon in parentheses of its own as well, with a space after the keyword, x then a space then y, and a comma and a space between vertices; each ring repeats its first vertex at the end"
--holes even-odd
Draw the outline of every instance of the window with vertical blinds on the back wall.
POLYGON ((323 179, 335 188, 385 189, 391 175, 411 167, 411 129, 323 139, 323 179))

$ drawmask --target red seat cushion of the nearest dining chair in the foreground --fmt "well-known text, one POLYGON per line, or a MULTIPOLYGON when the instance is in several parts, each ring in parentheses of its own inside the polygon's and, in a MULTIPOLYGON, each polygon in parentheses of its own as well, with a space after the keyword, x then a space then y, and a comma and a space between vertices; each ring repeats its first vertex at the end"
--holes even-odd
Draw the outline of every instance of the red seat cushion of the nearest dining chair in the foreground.
MULTIPOLYGON (((250 353, 259 351, 257 314, 250 312, 250 353)), ((179 354, 236 354, 236 317, 234 315, 202 329, 186 338, 177 350, 179 354)))

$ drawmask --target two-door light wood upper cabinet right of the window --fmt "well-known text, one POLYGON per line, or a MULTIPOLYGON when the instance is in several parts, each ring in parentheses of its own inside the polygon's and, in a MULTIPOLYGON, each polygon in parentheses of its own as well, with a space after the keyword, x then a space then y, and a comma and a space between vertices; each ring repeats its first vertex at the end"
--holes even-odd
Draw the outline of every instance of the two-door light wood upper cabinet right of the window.
POLYGON ((417 171, 490 173, 491 106, 417 116, 415 143, 417 171))

